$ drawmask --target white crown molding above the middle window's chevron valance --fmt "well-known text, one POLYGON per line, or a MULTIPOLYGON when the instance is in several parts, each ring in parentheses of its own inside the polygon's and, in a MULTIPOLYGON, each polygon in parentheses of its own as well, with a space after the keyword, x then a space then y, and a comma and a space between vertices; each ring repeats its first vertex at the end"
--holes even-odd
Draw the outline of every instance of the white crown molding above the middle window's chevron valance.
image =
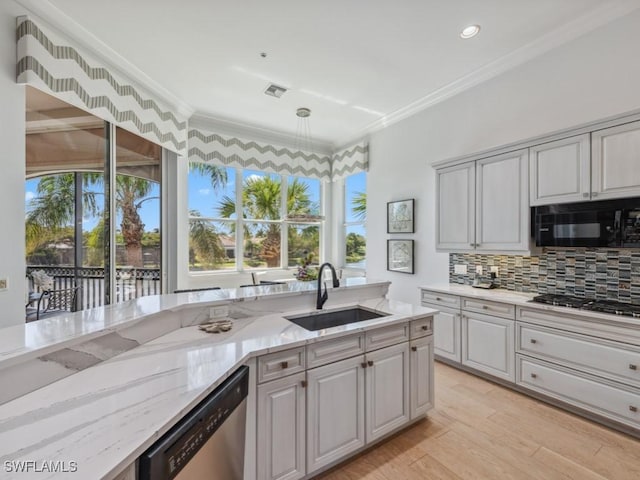
MULTIPOLYGON (((249 125, 244 122, 241 123, 220 117, 213 117, 198 112, 189 119, 189 128, 199 128, 222 135, 262 141, 283 147, 300 148, 300 138, 294 134, 271 130, 258 125, 249 125)), ((312 139, 311 147, 314 153, 322 153, 325 155, 331 155, 335 151, 332 143, 321 140, 312 139)))

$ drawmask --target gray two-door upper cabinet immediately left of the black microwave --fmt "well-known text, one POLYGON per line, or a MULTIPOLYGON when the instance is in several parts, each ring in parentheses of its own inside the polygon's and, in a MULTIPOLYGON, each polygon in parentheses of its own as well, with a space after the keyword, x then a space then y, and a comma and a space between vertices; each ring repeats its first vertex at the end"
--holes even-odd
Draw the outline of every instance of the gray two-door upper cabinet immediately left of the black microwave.
POLYGON ((528 151, 436 171, 440 251, 529 250, 528 151))

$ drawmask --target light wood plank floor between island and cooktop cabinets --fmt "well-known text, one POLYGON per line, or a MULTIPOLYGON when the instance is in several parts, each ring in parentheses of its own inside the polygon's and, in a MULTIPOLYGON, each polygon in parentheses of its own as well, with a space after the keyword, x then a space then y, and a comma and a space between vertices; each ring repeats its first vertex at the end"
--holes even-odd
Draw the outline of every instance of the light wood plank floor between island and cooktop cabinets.
POLYGON ((640 479, 640 441, 447 365, 428 418, 323 480, 640 479))

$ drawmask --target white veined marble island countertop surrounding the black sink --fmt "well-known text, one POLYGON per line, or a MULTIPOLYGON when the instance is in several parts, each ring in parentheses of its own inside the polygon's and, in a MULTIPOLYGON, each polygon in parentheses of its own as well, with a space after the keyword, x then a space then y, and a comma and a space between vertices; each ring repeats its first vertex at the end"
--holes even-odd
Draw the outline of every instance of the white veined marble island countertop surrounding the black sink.
MULTIPOLYGON (((261 288, 241 295, 260 294, 261 288)), ((216 292, 182 295, 189 295, 189 300, 194 301, 222 300, 216 292)), ((262 293, 268 294, 266 290, 262 293)), ((283 289, 282 293, 292 291, 283 289)), ((150 312, 158 308, 179 309, 181 300, 184 302, 178 295, 164 297, 148 302, 140 299, 135 306, 122 307, 131 314, 125 321, 135 318, 138 306, 150 312)), ((333 305, 331 309, 354 304, 388 315, 312 332, 286 320, 282 311, 262 311, 260 302, 242 302, 235 305, 241 314, 234 318, 230 332, 213 335, 197 326, 179 328, 0 405, 0 476, 112 478, 251 357, 436 313, 384 298, 333 305), (65 462, 67 468, 75 465, 77 471, 7 471, 7 465, 13 467, 16 464, 12 462, 17 461, 32 461, 36 467, 44 462, 65 462)), ((310 311, 307 308, 286 313, 310 311)), ((102 328, 107 317, 112 318, 105 313, 102 328)), ((98 327, 94 325, 81 334, 92 328, 98 327)), ((52 338, 64 341, 65 335, 52 338)))

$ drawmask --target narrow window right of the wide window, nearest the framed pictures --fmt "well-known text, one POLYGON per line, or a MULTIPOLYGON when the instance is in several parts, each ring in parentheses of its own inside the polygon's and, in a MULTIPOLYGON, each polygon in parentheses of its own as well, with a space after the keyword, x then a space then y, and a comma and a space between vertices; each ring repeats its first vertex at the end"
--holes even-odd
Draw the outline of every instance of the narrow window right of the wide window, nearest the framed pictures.
POLYGON ((344 182, 345 267, 366 267, 367 177, 366 172, 350 175, 344 182))

